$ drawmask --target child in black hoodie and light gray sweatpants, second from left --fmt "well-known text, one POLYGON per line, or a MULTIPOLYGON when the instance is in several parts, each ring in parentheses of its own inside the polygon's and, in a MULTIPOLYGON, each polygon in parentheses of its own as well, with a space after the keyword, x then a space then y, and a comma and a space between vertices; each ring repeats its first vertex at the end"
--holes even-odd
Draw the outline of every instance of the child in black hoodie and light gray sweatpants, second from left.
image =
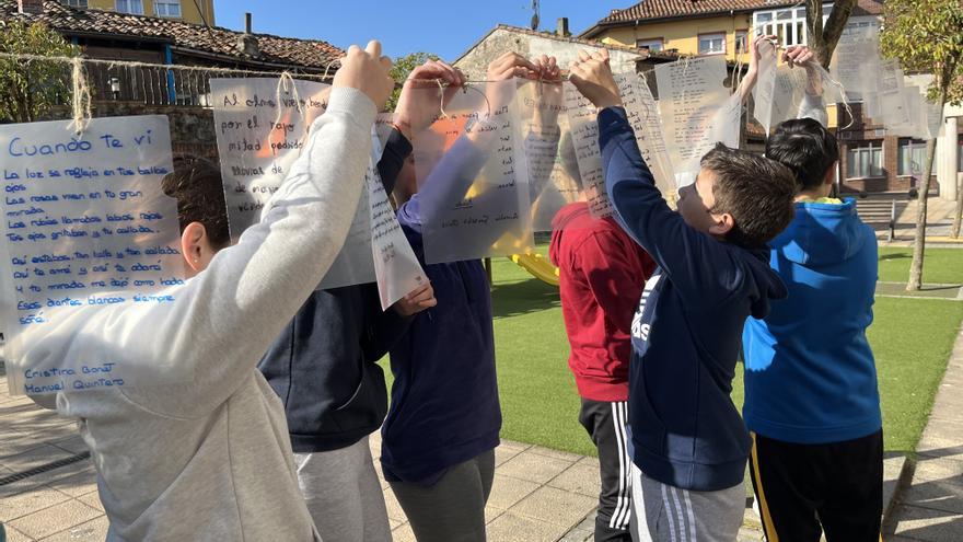
MULTIPOLYGON (((459 72, 429 60, 406 82, 379 174, 391 194, 411 153, 411 134, 432 120, 441 97, 411 92, 443 79, 456 89, 459 72), (427 83, 426 83, 427 81, 427 83), (425 103, 436 100, 437 103, 425 103)), ((449 94, 453 91, 449 91, 449 94)), ((324 540, 391 541, 381 483, 368 437, 387 413, 381 359, 408 331, 411 318, 436 304, 431 286, 419 288, 387 311, 378 286, 317 290, 275 341, 259 368, 285 403, 298 482, 324 540)))

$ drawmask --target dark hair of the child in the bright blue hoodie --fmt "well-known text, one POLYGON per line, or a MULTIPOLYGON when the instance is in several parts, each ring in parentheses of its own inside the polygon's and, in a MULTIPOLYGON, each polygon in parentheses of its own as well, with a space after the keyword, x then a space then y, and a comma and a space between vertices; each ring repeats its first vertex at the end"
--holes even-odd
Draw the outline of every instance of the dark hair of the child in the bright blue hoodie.
POLYGON ((796 174, 799 189, 816 188, 826 171, 839 160, 839 145, 823 125, 812 118, 794 118, 776 127, 766 141, 766 157, 796 174))

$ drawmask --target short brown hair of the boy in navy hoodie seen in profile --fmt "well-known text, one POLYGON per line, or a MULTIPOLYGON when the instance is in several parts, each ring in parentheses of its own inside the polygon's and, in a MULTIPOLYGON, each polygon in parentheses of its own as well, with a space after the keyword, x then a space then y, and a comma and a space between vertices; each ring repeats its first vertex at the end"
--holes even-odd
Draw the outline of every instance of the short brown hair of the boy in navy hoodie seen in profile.
POLYGON ((763 247, 796 214, 796 180, 789 168, 722 143, 703 157, 701 166, 716 174, 711 212, 727 212, 735 224, 727 241, 747 249, 763 247))

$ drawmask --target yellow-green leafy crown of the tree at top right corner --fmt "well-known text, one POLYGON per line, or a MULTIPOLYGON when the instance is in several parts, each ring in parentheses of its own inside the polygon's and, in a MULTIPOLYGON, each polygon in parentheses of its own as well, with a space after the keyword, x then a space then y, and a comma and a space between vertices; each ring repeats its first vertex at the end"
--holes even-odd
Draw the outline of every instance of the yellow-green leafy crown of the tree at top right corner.
POLYGON ((929 100, 963 100, 963 3, 960 0, 886 0, 880 50, 909 72, 933 74, 929 100), (945 84, 944 84, 945 83, 945 84))

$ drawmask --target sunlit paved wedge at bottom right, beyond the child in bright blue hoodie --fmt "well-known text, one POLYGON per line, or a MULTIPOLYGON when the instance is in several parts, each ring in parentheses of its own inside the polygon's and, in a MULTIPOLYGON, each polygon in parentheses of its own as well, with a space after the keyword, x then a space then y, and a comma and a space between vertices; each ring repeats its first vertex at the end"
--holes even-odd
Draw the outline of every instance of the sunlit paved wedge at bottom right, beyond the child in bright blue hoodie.
POLYGON ((916 452, 913 482, 897 498, 885 540, 963 540, 963 330, 916 452))

